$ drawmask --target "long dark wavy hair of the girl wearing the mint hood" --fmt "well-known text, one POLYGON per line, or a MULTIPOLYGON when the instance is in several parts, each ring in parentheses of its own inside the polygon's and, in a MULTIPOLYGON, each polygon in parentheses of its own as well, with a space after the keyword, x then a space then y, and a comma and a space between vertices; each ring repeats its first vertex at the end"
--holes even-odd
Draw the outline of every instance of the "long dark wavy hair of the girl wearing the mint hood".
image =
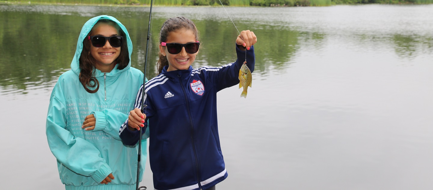
POLYGON ((120 26, 109 19, 100 19, 93 26, 92 30, 87 34, 87 37, 83 40, 83 51, 81 51, 80 55, 80 82, 83 85, 84 89, 89 93, 95 93, 99 89, 99 81, 95 77, 95 58, 90 54, 90 46, 92 45, 90 40, 88 40, 88 36, 92 34, 92 31, 95 27, 100 24, 107 24, 113 26, 117 29, 120 36, 123 36, 123 43, 120 46, 120 54, 116 60, 114 60, 115 64, 117 64, 117 69, 122 70, 129 64, 129 51, 128 51, 128 43, 125 32, 120 28, 120 26), (89 89, 95 88, 94 90, 89 89))

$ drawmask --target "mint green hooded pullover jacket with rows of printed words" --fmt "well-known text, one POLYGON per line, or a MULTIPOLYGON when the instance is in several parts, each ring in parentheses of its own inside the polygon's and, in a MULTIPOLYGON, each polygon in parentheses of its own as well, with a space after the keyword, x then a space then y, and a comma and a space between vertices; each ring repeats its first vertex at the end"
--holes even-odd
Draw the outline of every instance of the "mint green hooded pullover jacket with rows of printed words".
MULTIPOLYGON (((97 16, 81 29, 71 70, 61 74, 51 94, 46 122, 46 135, 51 152, 57 158, 60 179, 66 190, 133 190, 136 188, 138 144, 125 146, 119 128, 134 109, 136 92, 143 83, 143 73, 128 66, 110 73, 96 70, 99 90, 88 93, 78 78, 83 40, 99 19, 118 23, 126 34, 129 59, 132 43, 129 34, 117 19, 97 16), (84 118, 94 114, 95 129, 81 129, 84 118), (110 173, 114 180, 100 184, 110 173)), ((125 41, 124 41, 125 43, 125 41)), ((147 139, 142 141, 140 181, 147 158, 147 139)))

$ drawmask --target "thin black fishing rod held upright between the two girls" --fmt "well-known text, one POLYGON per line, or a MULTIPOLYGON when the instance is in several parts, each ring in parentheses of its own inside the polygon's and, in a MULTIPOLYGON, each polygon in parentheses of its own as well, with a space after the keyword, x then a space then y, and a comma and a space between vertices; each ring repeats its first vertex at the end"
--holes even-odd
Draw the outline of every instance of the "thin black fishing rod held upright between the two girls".
MULTIPOLYGON (((145 107, 147 107, 147 105, 144 102, 144 94, 145 94, 145 84, 146 84, 146 67, 147 67, 147 55, 149 52, 149 39, 150 39, 150 35, 152 35, 150 33, 150 23, 152 21, 152 7, 153 7, 153 0, 150 0, 150 12, 149 12, 149 27, 147 28, 147 44, 146 44, 146 56, 145 56, 145 60, 144 60, 144 78, 143 78, 143 89, 142 89, 142 96, 141 96, 141 102, 142 102, 142 106, 141 106, 141 113, 144 113, 144 109, 145 107)), ((139 187, 139 177, 140 177, 140 161, 141 161, 141 140, 142 140, 142 130, 143 128, 140 127, 140 138, 138 141, 138 164, 137 164, 137 186, 136 189, 137 190, 146 190, 147 187, 142 186, 139 187)))

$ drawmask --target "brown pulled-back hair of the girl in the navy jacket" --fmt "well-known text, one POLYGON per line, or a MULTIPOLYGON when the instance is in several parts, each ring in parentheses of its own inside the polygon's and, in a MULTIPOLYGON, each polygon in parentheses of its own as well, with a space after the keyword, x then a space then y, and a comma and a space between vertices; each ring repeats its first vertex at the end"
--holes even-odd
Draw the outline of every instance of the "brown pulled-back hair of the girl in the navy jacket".
MULTIPOLYGON (((167 37, 170 32, 174 32, 180 29, 191 30, 195 35, 195 40, 198 41, 200 34, 194 24, 190 19, 187 19, 183 16, 167 19, 164 24, 161 26, 161 32, 159 32, 159 44, 161 42, 166 42, 167 37)), ((159 51, 159 60, 157 63, 158 66, 158 74, 162 72, 164 66, 168 65, 167 57, 165 57, 161 51, 159 51)))

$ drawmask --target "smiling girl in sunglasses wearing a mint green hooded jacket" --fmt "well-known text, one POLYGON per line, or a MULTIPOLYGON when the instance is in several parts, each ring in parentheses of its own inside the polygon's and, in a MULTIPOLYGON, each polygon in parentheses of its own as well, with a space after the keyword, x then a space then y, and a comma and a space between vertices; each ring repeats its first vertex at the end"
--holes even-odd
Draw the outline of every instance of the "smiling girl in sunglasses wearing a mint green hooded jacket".
MULTIPOLYGON (((112 16, 94 17, 81 29, 71 70, 52 91, 46 122, 66 190, 136 188, 138 146, 123 145, 118 133, 134 106, 135 93, 129 92, 143 83, 143 73, 131 67, 131 53, 125 26, 112 16)), ((140 164, 145 149, 142 154, 140 164)))

